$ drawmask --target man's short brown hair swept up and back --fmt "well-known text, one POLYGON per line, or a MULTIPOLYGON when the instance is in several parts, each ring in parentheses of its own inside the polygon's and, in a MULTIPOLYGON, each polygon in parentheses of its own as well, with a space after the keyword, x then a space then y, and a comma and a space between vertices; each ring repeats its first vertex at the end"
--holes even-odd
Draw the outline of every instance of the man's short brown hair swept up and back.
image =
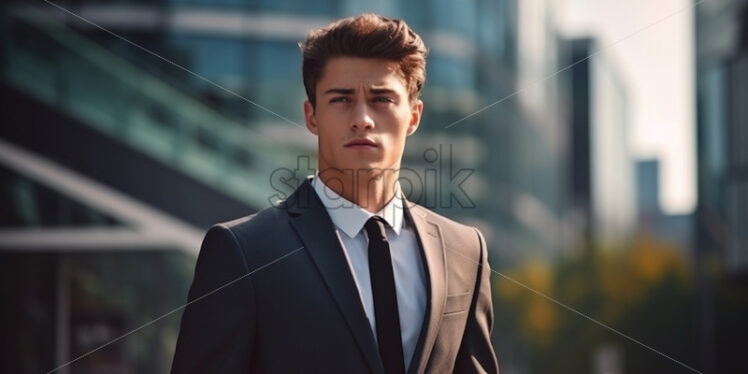
POLYGON ((334 57, 382 58, 399 63, 411 103, 426 81, 426 45, 401 19, 373 13, 343 18, 311 31, 299 43, 304 62, 302 74, 309 102, 316 104, 317 82, 327 62, 334 57))

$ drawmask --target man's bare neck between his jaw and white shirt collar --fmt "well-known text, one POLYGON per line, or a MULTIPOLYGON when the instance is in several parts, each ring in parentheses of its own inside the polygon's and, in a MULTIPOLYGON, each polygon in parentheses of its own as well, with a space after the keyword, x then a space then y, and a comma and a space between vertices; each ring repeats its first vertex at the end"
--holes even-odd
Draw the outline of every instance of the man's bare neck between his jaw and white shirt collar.
POLYGON ((396 170, 347 170, 321 169, 319 178, 331 190, 348 201, 377 213, 392 200, 398 190, 396 170))

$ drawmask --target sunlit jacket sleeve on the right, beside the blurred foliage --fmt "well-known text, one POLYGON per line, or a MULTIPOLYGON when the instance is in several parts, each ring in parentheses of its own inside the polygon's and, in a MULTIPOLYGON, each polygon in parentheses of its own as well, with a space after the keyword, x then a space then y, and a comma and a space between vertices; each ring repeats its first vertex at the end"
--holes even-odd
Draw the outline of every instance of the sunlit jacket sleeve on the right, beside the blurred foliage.
POLYGON ((499 365, 493 345, 493 302, 491 301, 491 268, 488 264, 486 240, 475 230, 480 242, 480 266, 473 301, 468 310, 465 333, 455 362, 455 373, 498 373, 499 365))

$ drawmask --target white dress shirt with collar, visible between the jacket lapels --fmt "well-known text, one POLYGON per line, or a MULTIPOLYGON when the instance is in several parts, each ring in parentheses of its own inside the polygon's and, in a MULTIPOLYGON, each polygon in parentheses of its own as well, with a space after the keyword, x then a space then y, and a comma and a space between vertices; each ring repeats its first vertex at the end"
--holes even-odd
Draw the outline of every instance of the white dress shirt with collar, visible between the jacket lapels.
MULTIPOLYGON (((366 230, 363 230, 366 221, 375 214, 327 187, 319 178, 319 171, 315 173, 312 185, 335 225, 335 232, 348 260, 348 266, 351 268, 353 280, 356 282, 366 317, 369 319, 376 340, 374 299, 371 294, 371 278, 369 278, 369 239, 366 230)), ((403 358, 407 371, 418 343, 426 311, 426 276, 415 229, 410 222, 407 222, 403 214, 399 183, 395 196, 376 215, 387 222, 385 231, 390 243, 403 358)))

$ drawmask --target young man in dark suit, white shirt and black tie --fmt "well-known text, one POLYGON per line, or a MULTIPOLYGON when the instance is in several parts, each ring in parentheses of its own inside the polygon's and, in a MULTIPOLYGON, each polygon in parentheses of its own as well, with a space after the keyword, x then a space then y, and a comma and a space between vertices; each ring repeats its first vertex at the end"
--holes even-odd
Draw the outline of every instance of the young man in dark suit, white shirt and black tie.
POLYGON ((303 55, 319 171, 208 231, 172 372, 498 372, 483 236, 398 183, 423 110, 421 38, 364 14, 310 34, 303 55))

